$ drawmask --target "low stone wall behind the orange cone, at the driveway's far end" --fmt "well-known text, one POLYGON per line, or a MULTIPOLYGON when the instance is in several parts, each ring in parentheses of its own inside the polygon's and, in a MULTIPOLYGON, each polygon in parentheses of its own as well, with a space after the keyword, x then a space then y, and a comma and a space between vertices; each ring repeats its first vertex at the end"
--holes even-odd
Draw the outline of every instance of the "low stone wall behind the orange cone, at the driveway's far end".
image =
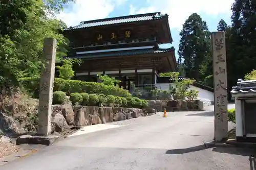
POLYGON ((171 100, 171 101, 150 101, 150 108, 157 111, 204 111, 203 102, 200 100, 171 100))

